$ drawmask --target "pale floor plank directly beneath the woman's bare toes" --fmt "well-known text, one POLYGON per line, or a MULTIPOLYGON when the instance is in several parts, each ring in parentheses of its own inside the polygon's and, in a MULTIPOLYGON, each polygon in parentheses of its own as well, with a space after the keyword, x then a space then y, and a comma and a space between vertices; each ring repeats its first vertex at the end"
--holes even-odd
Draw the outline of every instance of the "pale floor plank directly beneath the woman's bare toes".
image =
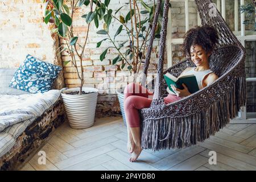
POLYGON ((147 163, 144 163, 142 160, 138 159, 137 162, 131 163, 129 161, 130 155, 122 150, 116 149, 107 153, 112 156, 112 158, 118 160, 119 162, 125 164, 126 166, 138 170, 138 171, 158 171, 157 168, 150 166, 147 163))

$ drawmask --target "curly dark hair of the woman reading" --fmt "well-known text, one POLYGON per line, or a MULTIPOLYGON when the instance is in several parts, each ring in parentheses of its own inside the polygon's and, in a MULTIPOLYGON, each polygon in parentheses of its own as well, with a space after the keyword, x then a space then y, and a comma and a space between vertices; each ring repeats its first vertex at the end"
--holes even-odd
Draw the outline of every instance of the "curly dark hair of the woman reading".
POLYGON ((201 26, 191 28, 186 32, 182 47, 185 55, 191 57, 191 46, 202 46, 208 53, 215 48, 217 42, 218 34, 215 28, 210 26, 201 26))

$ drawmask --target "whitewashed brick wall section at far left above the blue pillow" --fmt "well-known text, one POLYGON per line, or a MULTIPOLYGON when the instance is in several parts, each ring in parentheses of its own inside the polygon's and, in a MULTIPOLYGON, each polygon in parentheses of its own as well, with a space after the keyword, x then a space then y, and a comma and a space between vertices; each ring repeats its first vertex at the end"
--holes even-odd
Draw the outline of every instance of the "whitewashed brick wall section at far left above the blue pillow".
MULTIPOLYGON (((51 37, 43 23, 41 0, 0 1, 0 68, 18 68, 27 54, 61 65, 55 49, 58 39, 51 37)), ((55 88, 62 88, 63 73, 55 88)))

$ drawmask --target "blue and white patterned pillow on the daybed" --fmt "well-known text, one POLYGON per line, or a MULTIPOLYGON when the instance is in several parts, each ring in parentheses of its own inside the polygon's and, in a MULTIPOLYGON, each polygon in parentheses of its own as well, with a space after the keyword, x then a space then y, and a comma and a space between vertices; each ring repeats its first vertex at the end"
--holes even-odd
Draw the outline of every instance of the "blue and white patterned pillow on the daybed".
POLYGON ((31 93, 43 93, 51 89, 53 80, 58 76, 61 67, 45 63, 27 55, 11 79, 10 87, 31 93))

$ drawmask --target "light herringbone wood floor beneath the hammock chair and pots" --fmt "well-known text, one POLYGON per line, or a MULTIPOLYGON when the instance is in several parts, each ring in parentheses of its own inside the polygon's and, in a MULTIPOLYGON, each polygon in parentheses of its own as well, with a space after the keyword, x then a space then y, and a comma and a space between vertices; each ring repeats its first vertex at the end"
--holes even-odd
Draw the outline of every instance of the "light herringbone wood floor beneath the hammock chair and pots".
POLYGON ((182 150, 143 150, 129 162, 127 131, 121 117, 96 119, 93 127, 60 126, 41 148, 46 165, 34 155, 22 170, 256 170, 256 124, 229 124, 215 136, 182 150), (209 151, 217 152, 210 165, 209 151))

